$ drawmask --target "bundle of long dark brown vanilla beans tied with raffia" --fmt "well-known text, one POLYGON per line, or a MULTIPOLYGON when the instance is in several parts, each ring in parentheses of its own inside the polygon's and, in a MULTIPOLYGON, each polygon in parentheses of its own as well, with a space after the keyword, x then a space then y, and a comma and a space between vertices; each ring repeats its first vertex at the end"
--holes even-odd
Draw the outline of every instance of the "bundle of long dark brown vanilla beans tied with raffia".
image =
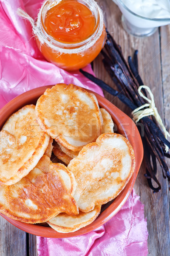
MULTIPOLYGON (((102 50, 103 64, 105 69, 111 76, 117 90, 114 90, 104 81, 97 79, 93 75, 80 70, 83 75, 88 79, 98 84, 102 89, 111 93, 113 96, 117 96, 123 103, 125 103, 132 111, 136 108, 144 105, 146 102, 138 93, 140 85, 144 85, 138 72, 138 51, 136 50, 133 56, 128 57, 128 64, 122 55, 122 50, 119 45, 116 44, 114 39, 107 31, 107 40, 105 47, 102 50)), ((144 89, 142 92, 145 96, 147 93, 144 89)), ((165 157, 170 158, 170 154, 165 152, 165 144, 170 148, 170 143, 165 139, 159 125, 157 124, 154 116, 143 117, 140 122, 144 125, 144 136, 142 142, 144 146, 144 160, 146 162, 146 174, 148 184, 153 192, 159 192, 161 185, 156 178, 157 162, 162 169, 162 175, 167 177, 170 183, 170 172, 165 162, 165 157), (153 186, 152 180, 154 180, 158 186, 153 186)), ((141 127, 138 126, 139 132, 142 135, 141 127)), ((170 186, 169 186, 170 189, 170 186)))

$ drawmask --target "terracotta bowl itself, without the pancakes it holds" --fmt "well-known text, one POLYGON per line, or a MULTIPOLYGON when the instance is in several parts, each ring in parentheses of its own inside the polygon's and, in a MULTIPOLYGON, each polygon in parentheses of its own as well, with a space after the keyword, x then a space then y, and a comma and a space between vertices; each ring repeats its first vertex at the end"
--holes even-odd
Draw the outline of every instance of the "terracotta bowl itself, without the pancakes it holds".
MULTIPOLYGON (((0 129, 2 128, 3 124, 6 122, 6 119, 9 116, 11 116, 12 113, 16 112, 17 110, 19 110, 20 108, 22 108, 27 104, 36 104, 37 99, 44 93, 46 88, 50 88, 50 87, 52 86, 39 87, 39 88, 30 90, 26 93, 21 94, 20 96, 17 96, 16 98, 8 102, 8 104, 6 104, 0 110, 0 129)), ((91 93, 94 93, 94 92, 91 92, 91 93)), ((21 230, 24 230, 33 235, 43 236, 43 237, 64 238, 64 237, 79 236, 79 235, 88 233, 96 229, 97 227, 100 227, 102 224, 104 224, 106 221, 112 218, 119 211, 119 209, 121 209, 123 204, 125 204, 127 198, 129 197, 133 189, 133 185, 135 183, 140 165, 142 163, 142 158, 143 158, 142 140, 135 123, 132 121, 132 119, 130 119, 130 117, 128 117, 125 113, 123 113, 118 108, 116 108, 107 99, 103 98, 97 93, 94 93, 94 94, 96 95, 96 98, 99 102, 99 106, 102 108, 105 108, 111 114, 113 118, 113 122, 115 124, 115 128, 116 128, 115 131, 127 137, 127 139, 130 141, 133 147, 135 158, 136 158, 136 168, 130 181, 125 186, 125 189, 123 189, 123 191, 112 202, 109 202, 104 207, 102 207, 103 208, 102 212, 99 214, 99 216, 96 218, 96 220, 93 223, 91 223, 86 227, 81 228, 80 230, 77 230, 74 233, 66 233, 66 234, 58 233, 57 231, 53 230, 51 227, 44 227, 44 226, 40 226, 39 224, 27 224, 20 221, 15 221, 3 214, 0 214, 1 216, 3 216, 3 218, 5 218, 7 221, 13 224, 15 227, 18 227, 21 230)))

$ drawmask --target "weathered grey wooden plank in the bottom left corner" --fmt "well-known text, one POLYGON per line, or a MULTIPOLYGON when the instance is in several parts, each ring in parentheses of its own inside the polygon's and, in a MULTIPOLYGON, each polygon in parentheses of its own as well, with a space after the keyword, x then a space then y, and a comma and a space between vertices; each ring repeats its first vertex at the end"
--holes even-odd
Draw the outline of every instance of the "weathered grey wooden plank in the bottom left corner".
POLYGON ((0 216, 0 256, 27 256, 26 232, 0 216))

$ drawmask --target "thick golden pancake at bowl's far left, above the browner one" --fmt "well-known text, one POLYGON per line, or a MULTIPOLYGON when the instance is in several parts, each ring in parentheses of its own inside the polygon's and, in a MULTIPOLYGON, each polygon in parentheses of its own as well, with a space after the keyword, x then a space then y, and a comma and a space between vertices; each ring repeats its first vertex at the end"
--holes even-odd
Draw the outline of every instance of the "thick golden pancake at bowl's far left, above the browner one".
POLYGON ((38 163, 49 143, 40 129, 35 106, 26 105, 12 114, 0 131, 0 185, 11 185, 38 163))

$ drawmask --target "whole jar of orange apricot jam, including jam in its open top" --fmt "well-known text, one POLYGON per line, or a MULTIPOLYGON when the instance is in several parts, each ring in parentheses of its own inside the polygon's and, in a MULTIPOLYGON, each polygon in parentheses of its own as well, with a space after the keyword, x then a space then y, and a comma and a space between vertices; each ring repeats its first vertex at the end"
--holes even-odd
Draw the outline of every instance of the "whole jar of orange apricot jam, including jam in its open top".
POLYGON ((44 57, 65 70, 85 67, 105 43, 103 14, 94 0, 48 0, 37 18, 37 45, 44 57))

